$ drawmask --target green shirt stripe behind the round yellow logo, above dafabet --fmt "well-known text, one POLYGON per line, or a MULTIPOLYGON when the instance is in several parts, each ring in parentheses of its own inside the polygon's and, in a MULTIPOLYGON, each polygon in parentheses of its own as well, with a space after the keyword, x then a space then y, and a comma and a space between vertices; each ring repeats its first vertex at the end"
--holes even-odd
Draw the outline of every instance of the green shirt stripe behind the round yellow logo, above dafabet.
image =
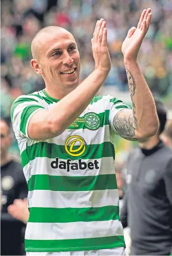
MULTIPOLYGON (((73 146, 73 150, 76 150, 78 146, 73 146)), ((104 142, 101 144, 87 145, 85 152, 80 156, 72 156, 65 151, 65 147, 54 143, 38 142, 32 146, 27 147, 27 151, 24 150, 21 154, 23 167, 27 165, 29 158, 30 161, 37 157, 47 158, 60 158, 60 159, 98 159, 102 157, 114 157, 114 150, 112 150, 112 144, 110 142, 104 142), (27 153, 28 152, 28 153, 27 153)))

